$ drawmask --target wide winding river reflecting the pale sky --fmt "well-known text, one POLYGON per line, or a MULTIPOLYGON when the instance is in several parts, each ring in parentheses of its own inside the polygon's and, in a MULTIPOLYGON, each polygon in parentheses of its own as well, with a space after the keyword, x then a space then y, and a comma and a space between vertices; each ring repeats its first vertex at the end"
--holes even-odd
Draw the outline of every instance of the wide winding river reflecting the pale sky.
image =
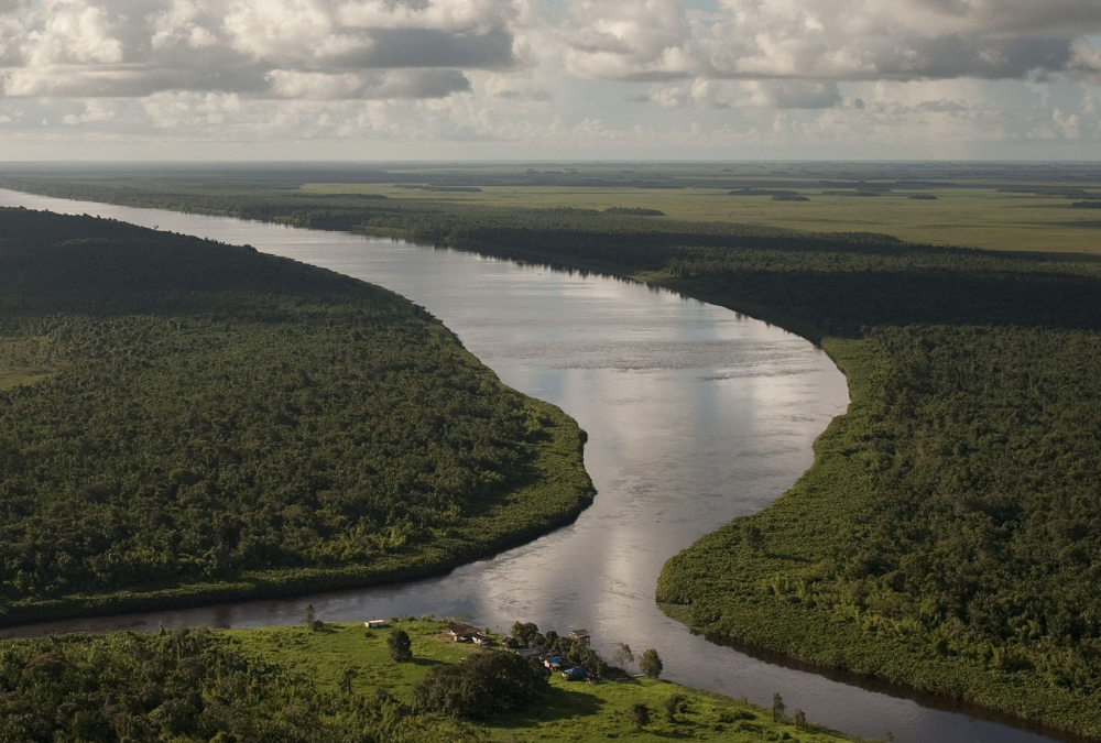
POLYGON ((295 624, 469 614, 506 630, 586 627, 606 655, 655 647, 665 677, 771 704, 847 732, 905 743, 1051 737, 974 710, 719 646, 654 603, 662 565, 734 516, 760 511, 810 466, 844 412, 844 378, 802 338, 680 295, 607 276, 339 232, 0 190, 0 206, 89 214, 196 234, 338 271, 423 305, 509 385, 563 407, 589 433, 596 502, 571 526, 447 576, 386 588, 57 622, 0 637, 178 624, 295 624), (982 714, 982 717, 977 717, 982 714))

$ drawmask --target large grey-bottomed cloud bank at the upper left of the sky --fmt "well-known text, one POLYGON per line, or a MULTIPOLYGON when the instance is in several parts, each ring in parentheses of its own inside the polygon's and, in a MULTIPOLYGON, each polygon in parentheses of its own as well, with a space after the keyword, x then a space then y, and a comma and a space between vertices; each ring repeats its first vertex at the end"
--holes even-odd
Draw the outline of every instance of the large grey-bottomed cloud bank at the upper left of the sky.
MULTIPOLYGON (((48 1, 0 24, 0 86, 8 97, 439 98, 470 89, 462 69, 517 64, 500 4, 393 0, 358 25, 338 0, 48 1)), ((19 6, 0 0, 0 12, 19 6)))

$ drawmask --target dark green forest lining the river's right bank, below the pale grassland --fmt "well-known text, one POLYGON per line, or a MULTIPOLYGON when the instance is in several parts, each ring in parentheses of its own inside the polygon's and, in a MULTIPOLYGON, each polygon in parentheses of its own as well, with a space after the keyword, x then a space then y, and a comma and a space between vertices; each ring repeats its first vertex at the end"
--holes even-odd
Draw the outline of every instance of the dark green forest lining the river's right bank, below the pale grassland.
POLYGON ((576 209, 7 183, 606 271, 821 343, 848 414, 787 494, 674 557, 658 601, 716 636, 1101 736, 1101 263, 576 209))

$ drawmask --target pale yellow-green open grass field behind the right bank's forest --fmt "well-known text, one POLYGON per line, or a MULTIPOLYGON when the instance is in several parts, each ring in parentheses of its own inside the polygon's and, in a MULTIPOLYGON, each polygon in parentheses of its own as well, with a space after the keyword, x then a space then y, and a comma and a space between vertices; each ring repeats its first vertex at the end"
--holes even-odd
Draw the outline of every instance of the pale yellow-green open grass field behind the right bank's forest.
MULTIPOLYGON (((381 184, 305 184, 309 194, 379 194, 392 200, 538 209, 644 207, 664 219, 726 221, 809 231, 882 232, 907 242, 990 250, 1101 252, 1101 211, 1076 209, 1055 195, 1004 194, 993 187, 940 189, 937 200, 896 190, 874 198, 822 196, 824 188, 793 188, 809 201, 730 196, 716 188, 482 186, 479 193, 442 193, 381 184)), ((651 219, 663 219, 652 217, 651 219)))

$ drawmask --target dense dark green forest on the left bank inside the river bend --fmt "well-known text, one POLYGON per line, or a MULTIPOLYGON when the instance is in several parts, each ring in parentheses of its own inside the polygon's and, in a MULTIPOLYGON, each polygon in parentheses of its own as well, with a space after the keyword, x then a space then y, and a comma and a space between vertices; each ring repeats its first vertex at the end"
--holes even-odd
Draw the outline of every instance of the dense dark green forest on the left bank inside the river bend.
POLYGON ((426 575, 592 496, 581 433, 384 289, 0 211, 0 620, 426 575))

